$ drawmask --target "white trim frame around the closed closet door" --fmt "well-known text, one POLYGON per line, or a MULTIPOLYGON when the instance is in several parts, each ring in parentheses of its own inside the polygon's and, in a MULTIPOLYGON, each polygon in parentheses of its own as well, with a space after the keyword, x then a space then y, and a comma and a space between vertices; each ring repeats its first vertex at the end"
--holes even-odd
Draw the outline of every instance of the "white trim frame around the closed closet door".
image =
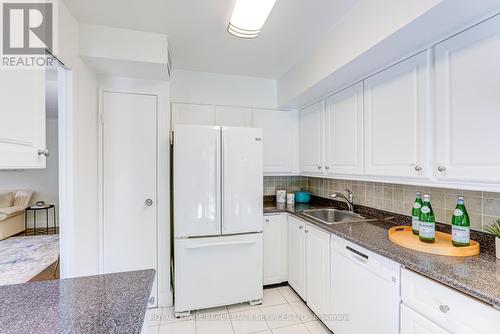
POLYGON ((158 307, 173 305, 170 290, 170 85, 166 81, 122 77, 99 78, 98 125, 98 242, 99 272, 103 266, 103 157, 102 157, 102 94, 106 91, 155 95, 157 110, 157 219, 158 219, 158 307), (160 205, 161 203, 161 205, 160 205))

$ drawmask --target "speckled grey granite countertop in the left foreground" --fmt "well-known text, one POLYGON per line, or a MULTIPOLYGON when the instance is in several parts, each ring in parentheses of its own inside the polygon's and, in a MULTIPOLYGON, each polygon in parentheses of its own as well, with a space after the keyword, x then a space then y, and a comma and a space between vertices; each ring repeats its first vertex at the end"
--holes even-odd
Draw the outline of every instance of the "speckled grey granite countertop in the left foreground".
POLYGON ((140 333, 153 269, 0 286, 1 333, 140 333))

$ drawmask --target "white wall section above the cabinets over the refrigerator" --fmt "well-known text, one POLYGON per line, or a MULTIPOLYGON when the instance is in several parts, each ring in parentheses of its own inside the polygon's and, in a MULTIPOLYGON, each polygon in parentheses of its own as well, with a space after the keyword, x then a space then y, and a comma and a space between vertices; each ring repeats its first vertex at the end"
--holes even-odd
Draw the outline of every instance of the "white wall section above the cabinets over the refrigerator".
POLYGON ((174 70, 170 89, 172 102, 276 108, 271 79, 174 70))

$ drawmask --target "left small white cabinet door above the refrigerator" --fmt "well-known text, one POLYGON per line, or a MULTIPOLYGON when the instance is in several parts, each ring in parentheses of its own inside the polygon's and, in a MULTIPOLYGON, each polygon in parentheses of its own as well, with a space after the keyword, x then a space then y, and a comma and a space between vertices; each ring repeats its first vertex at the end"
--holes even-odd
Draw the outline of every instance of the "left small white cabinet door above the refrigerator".
POLYGON ((207 104, 172 103, 172 126, 215 125, 214 106, 207 104))

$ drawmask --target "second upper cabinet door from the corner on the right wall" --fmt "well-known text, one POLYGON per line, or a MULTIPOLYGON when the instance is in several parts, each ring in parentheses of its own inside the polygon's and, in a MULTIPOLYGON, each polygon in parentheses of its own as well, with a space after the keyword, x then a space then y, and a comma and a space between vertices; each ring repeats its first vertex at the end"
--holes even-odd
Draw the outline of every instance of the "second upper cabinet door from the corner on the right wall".
POLYGON ((363 83, 325 101, 328 174, 363 174, 363 83))

